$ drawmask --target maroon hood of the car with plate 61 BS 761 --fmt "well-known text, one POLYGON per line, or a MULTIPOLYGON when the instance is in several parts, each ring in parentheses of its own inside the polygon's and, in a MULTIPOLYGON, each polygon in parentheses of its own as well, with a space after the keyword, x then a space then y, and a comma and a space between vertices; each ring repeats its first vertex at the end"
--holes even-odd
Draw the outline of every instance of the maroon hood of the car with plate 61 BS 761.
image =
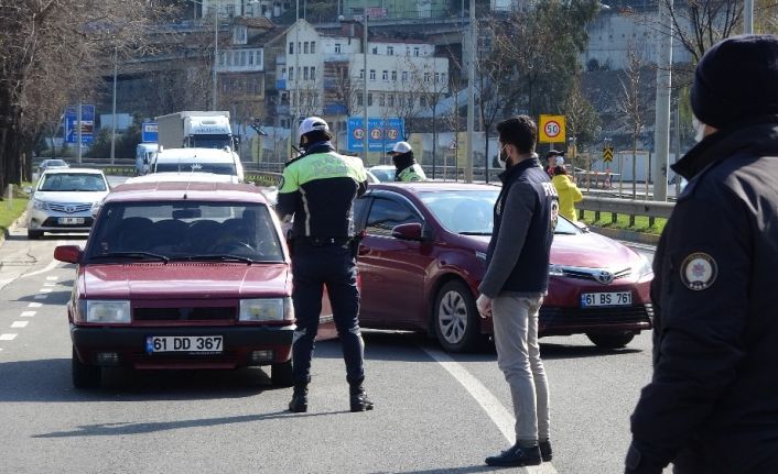
MULTIPOLYGON (((490 235, 467 236, 476 250, 486 252, 490 235)), ((575 235, 557 234, 551 244, 551 263, 586 268, 627 267, 637 254, 613 239, 593 232, 575 235)))

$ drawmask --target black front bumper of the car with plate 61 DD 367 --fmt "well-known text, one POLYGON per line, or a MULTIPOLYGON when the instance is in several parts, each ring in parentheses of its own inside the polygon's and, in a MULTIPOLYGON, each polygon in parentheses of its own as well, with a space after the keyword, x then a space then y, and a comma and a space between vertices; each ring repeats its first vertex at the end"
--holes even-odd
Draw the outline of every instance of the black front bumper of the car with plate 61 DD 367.
POLYGON ((134 368, 237 368, 287 362, 291 357, 295 327, 196 327, 196 328, 102 328, 71 324, 71 339, 82 362, 93 365, 125 365, 134 368), (148 353, 148 337, 221 335, 219 353, 148 353), (272 351, 272 357, 257 362, 255 351, 272 351), (98 353, 116 353, 118 360, 101 363, 98 353))

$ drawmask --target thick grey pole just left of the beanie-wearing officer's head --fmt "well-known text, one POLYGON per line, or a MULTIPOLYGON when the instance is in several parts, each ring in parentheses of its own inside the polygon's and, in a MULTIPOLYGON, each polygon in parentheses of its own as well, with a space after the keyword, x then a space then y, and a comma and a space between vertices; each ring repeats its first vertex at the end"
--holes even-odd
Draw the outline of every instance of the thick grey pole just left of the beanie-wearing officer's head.
MULTIPOLYGON (((657 99, 653 130, 653 200, 667 200, 667 169, 670 163, 670 87, 672 86, 672 1, 659 2, 659 24, 667 32, 659 32, 657 57, 657 99)), ((646 177, 648 179, 648 176, 646 177)))

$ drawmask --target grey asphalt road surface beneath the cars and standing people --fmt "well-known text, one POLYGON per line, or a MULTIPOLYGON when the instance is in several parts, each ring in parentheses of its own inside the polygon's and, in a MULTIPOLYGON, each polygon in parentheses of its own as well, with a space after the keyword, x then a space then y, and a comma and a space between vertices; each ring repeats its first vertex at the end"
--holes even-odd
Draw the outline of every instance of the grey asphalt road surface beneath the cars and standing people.
MULTIPOLYGON (((0 246, 0 472, 476 473, 493 472, 484 458, 512 442, 496 355, 444 354, 413 333, 365 331, 370 412, 348 411, 337 341, 316 348, 302 415, 284 411, 291 389, 257 368, 112 370, 100 390, 75 390, 65 315, 74 266, 52 253, 84 239, 30 242, 24 232, 0 246)), ((554 460, 519 472, 623 472, 650 332, 618 351, 548 338, 542 356, 554 460)))

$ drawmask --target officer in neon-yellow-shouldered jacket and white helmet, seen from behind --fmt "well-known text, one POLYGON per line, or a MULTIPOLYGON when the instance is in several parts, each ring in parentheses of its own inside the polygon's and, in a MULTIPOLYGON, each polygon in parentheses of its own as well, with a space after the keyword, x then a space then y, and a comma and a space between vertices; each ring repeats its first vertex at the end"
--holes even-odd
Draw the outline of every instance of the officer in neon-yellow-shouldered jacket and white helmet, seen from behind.
POLYGON ((364 351, 359 332, 354 234, 354 200, 367 189, 361 159, 338 154, 327 122, 310 117, 300 123, 302 154, 287 163, 275 210, 287 220, 294 217, 291 242, 292 300, 298 329, 292 345, 293 412, 307 411, 311 359, 326 286, 335 327, 343 345, 352 411, 372 409, 363 388, 364 351))

